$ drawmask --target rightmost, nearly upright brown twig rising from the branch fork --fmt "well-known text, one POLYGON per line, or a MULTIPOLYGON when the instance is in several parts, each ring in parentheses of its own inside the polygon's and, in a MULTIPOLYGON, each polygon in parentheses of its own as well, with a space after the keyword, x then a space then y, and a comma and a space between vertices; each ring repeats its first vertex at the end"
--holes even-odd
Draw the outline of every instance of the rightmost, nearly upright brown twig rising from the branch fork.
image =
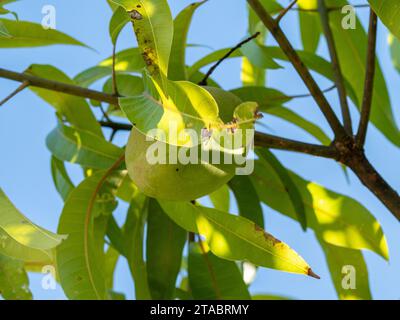
POLYGON ((377 34, 377 16, 371 9, 369 16, 368 30, 368 51, 367 51, 367 70, 365 72, 364 96, 361 106, 360 125, 358 127, 356 144, 362 147, 367 136, 368 122, 371 114, 372 96, 374 93, 374 78, 375 78, 375 51, 376 51, 376 34, 377 34))

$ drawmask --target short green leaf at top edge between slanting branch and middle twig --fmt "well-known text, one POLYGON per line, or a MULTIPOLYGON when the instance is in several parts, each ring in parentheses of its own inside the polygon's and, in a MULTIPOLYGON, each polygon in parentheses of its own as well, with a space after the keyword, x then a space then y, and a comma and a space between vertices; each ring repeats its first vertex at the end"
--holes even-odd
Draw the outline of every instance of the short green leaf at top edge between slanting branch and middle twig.
MULTIPOLYGON (((317 0, 299 0, 297 5, 301 9, 318 9, 317 0)), ((305 51, 315 52, 318 48, 321 37, 321 22, 318 12, 306 12, 299 10, 299 22, 301 30, 301 40, 305 51)))

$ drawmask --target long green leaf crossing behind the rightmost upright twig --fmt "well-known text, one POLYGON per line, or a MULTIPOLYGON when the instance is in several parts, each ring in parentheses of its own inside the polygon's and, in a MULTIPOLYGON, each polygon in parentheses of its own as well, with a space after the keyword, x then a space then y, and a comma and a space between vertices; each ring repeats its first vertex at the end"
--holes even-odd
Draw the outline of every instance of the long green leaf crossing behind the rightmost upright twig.
MULTIPOLYGON (((327 1, 328 6, 344 6, 347 4, 348 2, 345 0, 327 1)), ((382 2, 382 6, 385 6, 384 2, 382 2)), ((398 3, 396 3, 396 6, 398 7, 398 3)), ((380 12, 379 9, 378 12, 380 12)), ((331 12, 329 18, 343 76, 354 88, 357 100, 362 101, 368 43, 366 32, 359 20, 357 20, 355 29, 343 29, 343 15, 340 11, 331 12)), ((378 60, 376 62, 371 122, 390 142, 400 146, 400 131, 393 116, 386 81, 378 60)), ((361 108, 361 104, 356 103, 356 105, 359 109, 361 108)))

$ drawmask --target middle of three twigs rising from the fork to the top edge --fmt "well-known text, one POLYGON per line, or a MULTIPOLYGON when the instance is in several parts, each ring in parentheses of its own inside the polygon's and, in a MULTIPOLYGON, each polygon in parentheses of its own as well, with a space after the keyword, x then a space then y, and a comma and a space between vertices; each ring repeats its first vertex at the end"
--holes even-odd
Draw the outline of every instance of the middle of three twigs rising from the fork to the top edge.
POLYGON ((346 94, 346 88, 344 85, 343 74, 342 74, 342 70, 340 67, 339 57, 337 54, 332 29, 329 25, 328 10, 326 8, 324 0, 318 0, 318 8, 319 8, 320 16, 321 16, 322 29, 325 34, 326 42, 328 44, 328 49, 329 49, 329 55, 332 60, 333 73, 334 73, 334 77, 335 77, 336 87, 337 87, 337 90, 339 93, 339 101, 340 101, 340 108, 342 111, 344 128, 349 135, 353 135, 350 108, 349 108, 349 104, 347 102, 347 94, 346 94))

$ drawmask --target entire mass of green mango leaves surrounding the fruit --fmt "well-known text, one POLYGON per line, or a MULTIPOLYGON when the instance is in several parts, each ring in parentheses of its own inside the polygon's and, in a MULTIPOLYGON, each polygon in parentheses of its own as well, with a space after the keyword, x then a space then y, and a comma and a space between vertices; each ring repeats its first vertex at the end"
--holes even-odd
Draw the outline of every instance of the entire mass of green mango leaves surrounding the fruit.
MULTIPOLYGON (((1 5, 9 2, 12 1, 2 1, 1 5)), ((133 20, 138 47, 117 52, 74 79, 49 65, 31 65, 26 72, 81 87, 104 81, 106 93, 116 93, 118 88, 125 98, 120 99, 121 107, 108 107, 107 117, 125 118, 143 131, 162 124, 166 115, 174 117, 160 106, 165 106, 162 93, 171 93, 171 87, 179 81, 184 80, 190 86, 185 91, 186 97, 180 99, 190 100, 200 93, 204 97, 205 90, 196 85, 204 77, 203 68, 230 50, 219 49, 186 65, 191 20, 206 1, 188 6, 175 19, 167 0, 108 2, 113 12, 109 25, 112 45, 116 46, 121 30, 133 20), (160 116, 154 117, 157 112, 160 116)), ((276 1, 261 2, 271 13, 283 10, 276 1)), ((337 7, 347 1, 326 3, 337 7)), ((370 4, 394 34, 393 57, 400 68, 400 45, 396 38, 400 36, 400 24, 392 14, 399 4, 396 0, 370 0, 370 4)), ((333 81, 331 63, 315 53, 321 38, 319 16, 313 10, 317 1, 300 0, 298 5, 310 11, 299 11, 304 49, 297 52, 310 70, 333 81)), ((0 7, 0 14, 3 13, 9 11, 0 7)), ((349 98, 360 108, 366 33, 358 20, 354 30, 341 28, 340 11, 331 12, 330 18, 349 98)), ((242 87, 230 93, 241 101, 256 102, 261 112, 288 121, 328 145, 330 139, 323 129, 284 105, 294 97, 265 86, 266 70, 281 68, 277 61, 287 58, 279 47, 265 45, 267 31, 251 9, 248 22, 249 33, 260 32, 260 36, 230 56, 242 59, 243 82, 242 87)), ((44 30, 32 22, 0 19, 0 48, 53 44, 85 46, 59 31, 44 30)), ((379 66, 375 80, 371 122, 389 141, 400 145, 400 132, 379 66)), ((208 83, 221 88, 213 79, 208 83)), ((306 181, 286 169, 267 149, 256 151, 253 174, 235 176, 209 194, 213 208, 194 202, 149 198, 127 174, 124 149, 105 138, 91 109, 98 107, 99 102, 89 103, 84 98, 35 87, 30 90, 53 106, 57 114, 57 126, 49 133, 46 144, 52 153, 54 184, 65 204, 57 235, 27 220, 0 191, 0 294, 4 298, 31 298, 26 272, 54 265, 57 281, 68 298, 121 299, 123 295, 113 290, 114 271, 120 258, 128 261, 138 299, 251 298, 250 283, 243 280, 243 272, 249 265, 316 276, 300 255, 263 230, 262 204, 298 221, 304 230, 314 231, 339 298, 371 298, 361 251, 370 250, 388 259, 388 248, 378 221, 356 200, 306 181), (85 178, 79 185, 72 183, 65 162, 83 169, 85 178), (121 201, 129 203, 122 227, 113 217, 121 201), (238 215, 229 213, 232 201, 237 204, 238 215), (198 236, 188 237, 188 233, 198 236), (342 265, 353 265, 358 271, 357 289, 351 292, 341 287, 342 265)), ((222 104, 218 107, 219 115, 224 118, 228 111, 222 104)), ((174 114, 180 116, 187 112, 179 103, 174 108, 174 114)), ((202 112, 196 115, 203 126, 211 115, 209 108, 202 112)), ((180 118, 186 126, 185 117, 180 118)))

